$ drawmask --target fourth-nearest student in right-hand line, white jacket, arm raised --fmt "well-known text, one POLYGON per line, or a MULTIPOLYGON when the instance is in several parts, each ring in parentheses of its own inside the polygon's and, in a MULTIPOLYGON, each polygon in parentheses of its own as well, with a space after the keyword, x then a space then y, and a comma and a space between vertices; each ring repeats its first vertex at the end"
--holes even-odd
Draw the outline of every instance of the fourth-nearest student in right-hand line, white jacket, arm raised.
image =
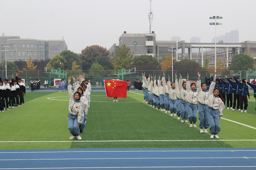
POLYGON ((181 123, 188 122, 188 104, 186 100, 187 90, 186 90, 186 82, 182 82, 182 77, 180 74, 179 79, 179 91, 180 91, 180 119, 181 123))

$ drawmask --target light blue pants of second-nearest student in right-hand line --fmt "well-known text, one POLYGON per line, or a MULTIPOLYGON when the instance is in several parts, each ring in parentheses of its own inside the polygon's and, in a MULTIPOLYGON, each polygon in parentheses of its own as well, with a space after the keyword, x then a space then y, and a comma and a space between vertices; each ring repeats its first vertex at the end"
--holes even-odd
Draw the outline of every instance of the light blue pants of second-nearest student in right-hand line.
POLYGON ((208 128, 209 127, 209 122, 208 122, 208 106, 203 105, 199 103, 198 105, 198 118, 200 120, 199 127, 200 128, 208 128))

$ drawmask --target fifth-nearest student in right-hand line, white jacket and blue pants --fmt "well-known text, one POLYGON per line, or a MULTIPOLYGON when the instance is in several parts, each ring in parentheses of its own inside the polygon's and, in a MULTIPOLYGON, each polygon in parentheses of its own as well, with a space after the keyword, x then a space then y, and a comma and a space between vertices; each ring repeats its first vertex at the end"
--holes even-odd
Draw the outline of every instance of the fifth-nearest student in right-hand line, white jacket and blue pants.
POLYGON ((169 90, 169 108, 170 108, 170 112, 171 112, 171 116, 176 116, 176 112, 177 112, 177 109, 176 109, 176 94, 177 94, 177 91, 176 91, 176 87, 178 87, 178 80, 177 78, 175 79, 175 83, 172 82, 170 83, 170 76, 168 75, 169 79, 168 79, 168 90, 169 90))

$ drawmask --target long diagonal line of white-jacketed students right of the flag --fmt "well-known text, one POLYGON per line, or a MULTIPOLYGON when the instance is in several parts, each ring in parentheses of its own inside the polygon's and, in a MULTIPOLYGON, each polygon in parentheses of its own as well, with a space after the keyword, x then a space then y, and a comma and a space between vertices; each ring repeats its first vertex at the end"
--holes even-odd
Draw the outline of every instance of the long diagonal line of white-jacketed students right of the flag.
POLYGON ((197 110, 199 116, 200 133, 207 133, 207 128, 211 133, 210 138, 219 138, 218 133, 221 127, 219 126, 220 116, 223 115, 224 99, 220 94, 220 89, 215 88, 215 81, 209 84, 209 91, 207 90, 207 84, 201 83, 201 74, 198 72, 198 87, 194 82, 189 81, 189 75, 187 75, 186 81, 180 75, 179 81, 175 74, 175 83, 170 82, 170 77, 167 80, 163 73, 162 79, 156 81, 156 76, 143 78, 143 94, 144 102, 148 103, 153 108, 165 111, 165 113, 171 113, 171 116, 176 116, 181 119, 181 122, 188 122, 189 127, 196 127, 197 122, 197 110), (199 105, 198 105, 199 103, 199 105))

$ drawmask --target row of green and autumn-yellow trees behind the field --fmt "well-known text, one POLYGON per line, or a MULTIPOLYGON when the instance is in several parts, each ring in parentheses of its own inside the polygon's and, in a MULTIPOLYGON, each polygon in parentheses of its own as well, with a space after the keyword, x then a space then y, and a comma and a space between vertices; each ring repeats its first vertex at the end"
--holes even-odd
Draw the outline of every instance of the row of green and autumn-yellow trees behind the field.
MULTIPOLYGON (((106 70, 130 69, 136 67, 137 70, 172 70, 172 55, 164 56, 157 61, 155 57, 141 55, 133 57, 133 53, 127 45, 122 45, 116 50, 116 56, 109 59, 110 52, 99 45, 91 45, 84 48, 81 54, 71 51, 62 51, 50 60, 33 61, 30 57, 28 62, 15 61, 7 62, 8 70, 44 70, 45 67, 57 69, 61 66, 64 70, 90 70, 98 71, 100 76, 106 75, 106 70), (60 65, 61 63, 61 65, 60 65)), ((201 67, 195 60, 183 59, 173 62, 174 70, 182 71, 207 71, 209 59, 205 59, 204 67, 201 67)), ((255 68, 255 61, 250 54, 234 55, 229 68, 224 67, 226 62, 217 60, 217 70, 248 70, 255 68)), ((0 63, 0 70, 5 70, 5 62, 0 63)), ((94 72, 95 73, 95 72, 94 72)), ((89 73, 90 74, 90 73, 89 73)))

